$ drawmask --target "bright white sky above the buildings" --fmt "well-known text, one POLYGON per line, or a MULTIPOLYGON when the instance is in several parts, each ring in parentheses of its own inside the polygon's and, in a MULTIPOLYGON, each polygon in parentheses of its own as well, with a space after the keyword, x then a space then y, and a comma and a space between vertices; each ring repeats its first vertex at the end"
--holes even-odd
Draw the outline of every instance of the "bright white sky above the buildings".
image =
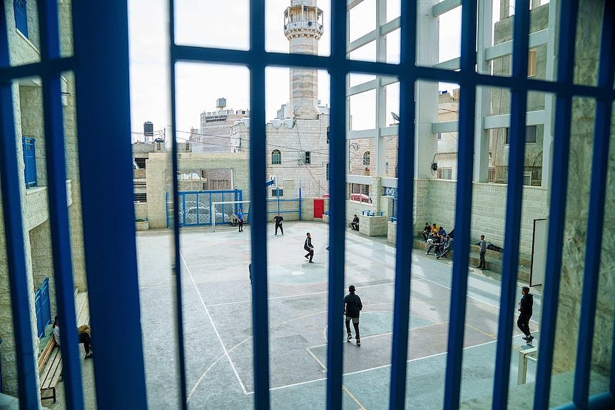
MULTIPOLYGON (((154 130, 171 123, 168 76, 168 0, 129 0, 129 36, 131 63, 131 121, 133 132, 143 132, 143 122, 151 121, 154 130)), ((265 46, 267 51, 288 53, 284 36, 284 11, 290 0, 265 0, 265 46)), ((319 54, 330 53, 330 0, 318 0, 324 16, 324 34, 319 54)), ((249 46, 249 1, 176 0, 176 43, 190 46, 223 47, 246 50, 249 46)), ((375 29, 375 0, 366 0, 350 14, 350 40, 375 29)), ((400 0, 387 0, 387 18, 399 16, 400 0)), ((398 31, 397 31, 398 33, 398 31)), ((459 9, 440 19, 439 61, 459 56, 459 9)), ((387 36, 387 61, 399 61, 399 34, 387 36)), ((374 48, 367 46, 352 53, 352 58, 370 59, 374 48)), ((177 128, 188 132, 199 128, 200 113, 215 111, 215 101, 226 98, 227 108, 249 109, 248 69, 244 66, 220 66, 203 63, 176 65, 177 128)), ((350 83, 370 76, 351 76, 350 83)), ((452 90, 452 84, 440 84, 452 90)), ((265 118, 275 118, 276 111, 289 100, 288 68, 265 71, 265 118)), ((329 103, 329 76, 318 74, 318 98, 329 103)), ((399 112, 396 86, 387 88, 387 112, 399 112)), ((375 92, 350 100, 352 129, 373 128, 375 92)), ((392 119, 389 119, 392 122, 392 119)))

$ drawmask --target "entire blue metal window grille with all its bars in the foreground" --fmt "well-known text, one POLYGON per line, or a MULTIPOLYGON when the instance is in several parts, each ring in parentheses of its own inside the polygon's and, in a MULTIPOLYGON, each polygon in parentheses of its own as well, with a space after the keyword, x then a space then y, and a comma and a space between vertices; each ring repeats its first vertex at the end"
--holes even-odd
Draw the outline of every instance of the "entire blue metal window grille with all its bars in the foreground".
MULTIPOLYGON (((330 124, 330 251, 328 290, 328 332, 330 343, 327 349, 327 409, 342 408, 342 323, 341 301, 344 294, 344 236, 345 236, 345 135, 346 135, 346 76, 350 71, 377 73, 400 78, 400 147, 397 185, 399 205, 397 227, 400 232, 412 231, 413 171, 415 166, 415 83, 417 80, 448 81, 459 83, 461 94, 459 114, 459 168, 457 172, 457 200, 455 207, 457 243, 469 243, 472 207, 472 157, 474 147, 475 103, 477 86, 500 86, 512 89, 511 132, 520 135, 526 123, 528 91, 556 93, 552 198, 566 198, 570 147, 570 112, 573 96, 596 99, 596 123, 594 130, 594 157, 592 160, 591 194, 589 214, 591 223, 602 226, 604 222, 604 198, 606 195, 606 169, 609 163, 609 130, 611 107, 614 101, 613 78, 614 19, 615 5, 605 1, 604 21, 601 30, 599 54, 599 81, 596 86, 579 86, 573 80, 574 46, 576 44, 576 21, 579 4, 576 1, 561 2, 559 31, 559 61, 556 81, 527 79, 527 55, 529 46, 529 9, 517 2, 514 19, 514 44, 512 76, 484 76, 476 72, 476 27, 477 0, 462 1, 462 52, 459 71, 444 71, 439 68, 417 66, 416 33, 417 4, 402 1, 400 18, 401 58, 399 64, 350 61, 347 58, 347 1, 332 1, 331 55, 301 56, 265 51, 265 14, 261 1, 250 1, 250 49, 248 51, 220 50, 180 46, 174 39, 174 1, 169 1, 171 36, 171 76, 175 78, 178 61, 197 61, 241 64, 250 69, 250 113, 253 123, 265 124, 265 67, 311 66, 327 69, 331 84, 330 124), (340 274, 341 272, 341 274, 340 274)), ((457 1, 442 1, 444 6, 457 1)), ((19 166, 12 135, 16 135, 13 121, 11 81, 29 76, 41 76, 44 93, 44 118, 46 133, 47 173, 49 180, 49 208, 51 238, 54 250, 54 275, 59 316, 63 323, 62 352, 66 402, 73 409, 83 409, 81 371, 76 350, 77 341, 73 329, 76 323, 72 295, 72 272, 68 215, 66 211, 66 163, 62 143, 63 121, 61 116, 62 71, 76 73, 76 102, 78 130, 83 138, 79 143, 81 161, 81 195, 83 201, 83 235, 86 254, 88 286, 91 291, 91 320, 101 329, 139 329, 140 312, 138 282, 136 277, 136 244, 134 240, 134 210, 132 201, 132 170, 129 125, 128 84, 128 16, 126 1, 73 2, 73 28, 75 57, 59 55, 59 30, 56 1, 37 3, 41 22, 41 62, 27 68, 12 68, 9 62, 9 46, 6 19, 0 19, 0 185, 4 206, 6 230, 6 255, 9 265, 9 280, 14 328, 16 334, 17 369, 20 389, 20 405, 24 409, 38 409, 38 386, 36 364, 32 352, 29 312, 29 285, 26 281, 24 257, 24 230, 21 221, 19 166), (96 26, 96 30, 91 30, 96 26), (114 106, 114 116, 99 121, 101 107, 114 106), (6 136, 9 138, 6 138, 6 136), (51 138, 55 136, 56 138, 51 138), (96 138, 101 136, 101 138, 96 138), (111 141, 110 141, 111 138, 111 141), (99 140, 105 139, 113 150, 101 150, 99 140), (109 167, 108 164, 116 166, 109 167), (112 184, 109 181, 113 181, 112 184), (108 187, 107 195, 99 195, 99 187, 108 187), (117 198, 126 198, 117 201, 117 198), (113 210, 111 212, 110 210, 113 210), (122 237, 122 241, 117 241, 122 237), (121 243, 120 243, 121 242, 121 243), (109 258, 108 255, 113 255, 109 258), (113 303, 108 295, 115 294, 113 303)), ((25 2, 24 2, 25 7, 25 2)), ((172 124, 176 129, 175 81, 171 81, 172 124)), ((250 135, 250 213, 253 214, 253 351, 255 378, 255 409, 268 409, 269 396, 269 349, 268 349, 268 284, 267 284, 267 212, 265 180, 265 127, 253 127, 250 135), (260 158, 260 159, 259 159, 260 158)), ((172 138, 173 175, 178 170, 176 138, 172 138)), ((516 294, 516 262, 519 257, 519 226, 522 207, 522 183, 524 167, 524 141, 512 140, 510 144, 509 184, 506 208, 507 252, 504 252, 502 275, 502 299, 493 407, 507 406, 509 388, 509 364, 511 355, 512 317, 516 294)), ((178 198, 178 182, 173 180, 173 198, 178 198)), ((559 272, 563 244, 565 201, 554 200, 549 209, 549 244, 547 247, 547 277, 545 288, 542 337, 539 344, 537 384, 534 408, 549 406, 549 389, 552 376, 555 324, 559 301, 559 272)), ((175 257, 179 255, 178 210, 173 209, 175 221, 175 257)), ((594 314, 596 312, 597 272, 599 271, 601 235, 591 235, 586 241, 586 263, 581 303, 578 352, 576 356, 573 403, 567 408, 586 406, 614 406, 615 360, 611 361, 611 387, 597 397, 589 397, 589 371, 591 369, 591 342, 594 337, 594 314)), ((412 235, 397 235, 397 249, 412 248, 412 235)), ((464 318, 467 296, 467 265, 469 247, 458 246, 454 252, 452 275, 452 302, 449 318, 449 342, 444 390, 444 409, 459 407, 462 373, 462 349, 464 318)), ((408 320, 410 317, 410 258, 407 252, 397 252, 395 260, 395 312, 392 336, 392 367, 390 373, 390 408, 405 408, 406 359, 408 346, 408 320)), ((181 289, 181 267, 176 266, 177 289, 181 289)), ((187 408, 185 386, 185 362, 183 349, 183 318, 181 316, 181 292, 177 293, 179 358, 181 374, 182 408, 187 408)), ((117 342, 116 334, 101 332, 97 339, 97 352, 105 357, 96 363, 96 389, 98 406, 103 409, 146 408, 146 389, 143 369, 141 333, 135 331, 130 337, 117 342), (130 391, 131 394, 126 394, 130 391)))

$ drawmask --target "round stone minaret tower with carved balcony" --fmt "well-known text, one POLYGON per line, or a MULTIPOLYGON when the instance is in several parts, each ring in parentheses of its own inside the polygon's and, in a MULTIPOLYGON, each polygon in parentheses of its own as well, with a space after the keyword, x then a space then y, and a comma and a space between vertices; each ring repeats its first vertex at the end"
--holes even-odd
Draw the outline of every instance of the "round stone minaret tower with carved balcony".
MULTIPOLYGON (((316 0, 291 0, 284 12, 284 34, 290 53, 318 54, 322 36, 322 10, 316 0)), ((318 77, 312 68, 290 68, 290 116, 317 118, 318 77)))

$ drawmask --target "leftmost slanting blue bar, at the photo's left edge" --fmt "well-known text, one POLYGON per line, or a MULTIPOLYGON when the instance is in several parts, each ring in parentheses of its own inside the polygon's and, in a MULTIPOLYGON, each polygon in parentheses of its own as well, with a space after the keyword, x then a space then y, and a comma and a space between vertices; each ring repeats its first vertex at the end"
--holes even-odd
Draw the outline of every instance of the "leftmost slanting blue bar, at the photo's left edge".
MULTIPOLYGON (((9 61, 9 28, 6 26, 5 1, 0 2, 0 68, 9 61)), ((11 28, 12 30, 12 28, 11 28)), ((6 260, 9 268, 11 310, 15 335, 17 382, 20 409, 39 409, 39 386, 36 384, 33 337, 30 322, 30 285, 24 272, 24 226, 21 221, 21 194, 17 163, 13 93, 10 81, 0 82, 0 188, 4 210, 6 260)))

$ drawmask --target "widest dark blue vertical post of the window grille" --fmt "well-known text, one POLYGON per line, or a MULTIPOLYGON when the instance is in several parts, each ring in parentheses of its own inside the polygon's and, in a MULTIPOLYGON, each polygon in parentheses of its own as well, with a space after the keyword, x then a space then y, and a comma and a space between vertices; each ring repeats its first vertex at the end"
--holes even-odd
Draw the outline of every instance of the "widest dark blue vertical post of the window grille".
POLYGON ((96 332, 96 400, 101 409, 143 409, 128 6, 126 0, 73 1, 72 11, 83 245, 96 332))

